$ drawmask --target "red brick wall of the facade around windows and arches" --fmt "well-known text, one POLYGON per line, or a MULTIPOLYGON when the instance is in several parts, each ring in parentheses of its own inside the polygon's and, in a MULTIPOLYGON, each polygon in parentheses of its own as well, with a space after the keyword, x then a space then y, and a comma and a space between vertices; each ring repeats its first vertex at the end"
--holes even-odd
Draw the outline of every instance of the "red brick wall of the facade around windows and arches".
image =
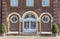
MULTIPOLYGON (((27 11, 36 12, 36 14, 38 15, 38 18, 40 17, 40 15, 42 13, 48 12, 49 14, 51 14, 51 16, 53 18, 52 21, 54 23, 59 24, 58 23, 59 20, 58 20, 58 9, 57 9, 58 1, 57 0, 50 0, 50 6, 49 7, 42 7, 42 0, 34 0, 34 7, 26 7, 26 0, 19 0, 18 3, 19 3, 18 7, 11 7, 10 6, 10 0, 2 0, 2 23, 6 24, 8 32, 11 29, 12 30, 16 29, 18 32, 23 32, 23 29, 22 29, 23 23, 22 23, 22 21, 18 22, 16 24, 10 23, 9 26, 12 26, 11 28, 8 26, 7 17, 12 12, 17 12, 21 16, 21 18, 23 16, 23 14, 27 11)), ((40 18, 40 19, 42 19, 42 18, 40 18)), ((43 23, 42 21, 37 22, 38 23, 38 32, 40 32, 40 31, 41 32, 51 32, 51 25, 53 24, 53 22, 51 22, 51 17, 50 17, 50 22, 47 23, 47 24, 43 23)))

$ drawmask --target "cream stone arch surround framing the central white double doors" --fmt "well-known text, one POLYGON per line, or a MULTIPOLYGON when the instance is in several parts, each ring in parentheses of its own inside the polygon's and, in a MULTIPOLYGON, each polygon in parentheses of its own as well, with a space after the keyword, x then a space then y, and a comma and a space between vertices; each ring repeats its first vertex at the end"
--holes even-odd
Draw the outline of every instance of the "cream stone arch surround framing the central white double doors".
MULTIPOLYGON (((38 19, 38 15, 36 14, 36 12, 34 12, 34 11, 27 11, 27 12, 25 12, 23 14, 23 16, 22 16, 22 23, 24 24, 24 21, 23 21, 24 20, 24 17, 26 15, 28 15, 28 14, 32 14, 32 15, 34 15, 36 17, 36 29, 37 29, 37 34, 38 34, 38 21, 39 21, 39 19, 38 19)), ((23 26, 22 29, 24 30, 24 25, 22 25, 22 26, 23 26)))

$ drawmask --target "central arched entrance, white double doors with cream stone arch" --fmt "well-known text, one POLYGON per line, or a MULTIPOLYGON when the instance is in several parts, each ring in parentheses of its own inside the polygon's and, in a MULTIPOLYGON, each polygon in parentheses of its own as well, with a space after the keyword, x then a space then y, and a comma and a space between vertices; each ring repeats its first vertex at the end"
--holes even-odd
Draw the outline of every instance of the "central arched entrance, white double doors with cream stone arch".
POLYGON ((34 11, 27 11, 22 16, 23 33, 38 32, 38 15, 34 11))

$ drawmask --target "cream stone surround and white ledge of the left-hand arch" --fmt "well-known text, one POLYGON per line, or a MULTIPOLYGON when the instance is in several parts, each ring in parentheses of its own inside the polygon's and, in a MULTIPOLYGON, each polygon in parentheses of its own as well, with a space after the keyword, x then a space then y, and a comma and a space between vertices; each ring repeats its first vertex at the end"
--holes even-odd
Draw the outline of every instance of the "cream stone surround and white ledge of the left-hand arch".
POLYGON ((10 13, 9 15, 8 15, 8 17, 7 17, 7 23, 8 23, 8 34, 18 34, 18 33, 20 33, 21 32, 21 16, 17 13, 17 12, 12 12, 12 13, 10 13), (10 32, 9 31, 9 27, 10 27, 10 22, 9 22, 9 18, 10 18, 10 16, 11 15, 13 15, 13 14, 15 14, 15 15, 17 15, 18 17, 19 17, 19 32, 10 32))

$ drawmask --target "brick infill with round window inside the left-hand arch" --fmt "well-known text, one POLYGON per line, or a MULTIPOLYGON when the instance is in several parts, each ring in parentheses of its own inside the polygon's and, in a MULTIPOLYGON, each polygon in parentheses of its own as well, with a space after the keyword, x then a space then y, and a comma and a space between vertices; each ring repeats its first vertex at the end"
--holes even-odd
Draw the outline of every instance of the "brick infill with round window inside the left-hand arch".
POLYGON ((9 18, 9 31, 10 32, 19 32, 19 17, 17 15, 12 15, 9 18))

